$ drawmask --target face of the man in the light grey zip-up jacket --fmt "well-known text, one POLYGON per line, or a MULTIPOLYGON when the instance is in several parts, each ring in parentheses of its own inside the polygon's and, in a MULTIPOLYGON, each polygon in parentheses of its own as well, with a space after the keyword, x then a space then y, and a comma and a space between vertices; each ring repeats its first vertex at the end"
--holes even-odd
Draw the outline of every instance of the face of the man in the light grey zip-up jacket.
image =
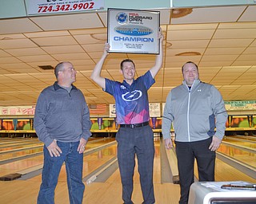
POLYGON ((199 78, 198 69, 193 63, 187 63, 184 65, 182 74, 188 86, 191 86, 194 80, 198 80, 199 78))

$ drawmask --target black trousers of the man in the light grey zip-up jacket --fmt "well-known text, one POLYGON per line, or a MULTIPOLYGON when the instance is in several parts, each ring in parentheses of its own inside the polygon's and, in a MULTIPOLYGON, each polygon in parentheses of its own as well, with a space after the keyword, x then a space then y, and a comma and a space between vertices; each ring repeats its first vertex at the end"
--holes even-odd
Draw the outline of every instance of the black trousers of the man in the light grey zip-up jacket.
POLYGON ((194 159, 198 163, 199 182, 214 181, 215 151, 210 151, 212 138, 197 142, 175 142, 178 159, 178 175, 181 186, 179 203, 186 204, 190 186, 194 182, 194 159))

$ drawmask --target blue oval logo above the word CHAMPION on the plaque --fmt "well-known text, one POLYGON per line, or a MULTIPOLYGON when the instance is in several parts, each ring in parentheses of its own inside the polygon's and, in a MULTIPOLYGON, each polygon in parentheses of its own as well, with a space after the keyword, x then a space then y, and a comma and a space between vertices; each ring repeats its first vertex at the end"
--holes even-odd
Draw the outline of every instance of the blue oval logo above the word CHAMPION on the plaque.
POLYGON ((145 26, 118 26, 114 31, 129 36, 144 36, 153 33, 153 30, 145 26))

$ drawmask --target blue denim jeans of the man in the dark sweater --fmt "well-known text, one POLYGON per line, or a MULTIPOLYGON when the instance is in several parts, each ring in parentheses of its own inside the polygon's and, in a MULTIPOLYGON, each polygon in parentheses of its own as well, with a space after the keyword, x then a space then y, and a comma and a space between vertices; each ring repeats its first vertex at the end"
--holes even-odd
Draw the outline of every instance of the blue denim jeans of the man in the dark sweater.
POLYGON ((50 157, 44 146, 44 164, 42 168, 42 184, 38 194, 38 204, 54 204, 54 190, 58 183, 58 175, 62 164, 66 164, 66 176, 69 189, 70 204, 81 204, 85 185, 82 182, 83 154, 77 151, 79 142, 57 142, 62 154, 50 157))

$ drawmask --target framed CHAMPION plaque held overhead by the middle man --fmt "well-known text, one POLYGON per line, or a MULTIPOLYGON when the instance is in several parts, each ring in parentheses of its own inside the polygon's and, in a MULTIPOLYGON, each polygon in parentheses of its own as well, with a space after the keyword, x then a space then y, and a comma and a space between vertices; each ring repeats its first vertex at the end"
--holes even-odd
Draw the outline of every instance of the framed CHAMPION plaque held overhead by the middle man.
POLYGON ((160 12, 107 10, 110 53, 159 53, 160 12))

